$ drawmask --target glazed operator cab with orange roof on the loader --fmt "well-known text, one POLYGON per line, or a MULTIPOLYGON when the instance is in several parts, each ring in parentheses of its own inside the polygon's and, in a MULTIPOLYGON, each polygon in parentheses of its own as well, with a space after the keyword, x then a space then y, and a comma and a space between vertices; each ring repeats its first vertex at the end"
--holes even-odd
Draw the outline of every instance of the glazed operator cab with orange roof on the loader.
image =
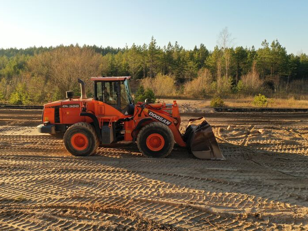
POLYGON ((123 115, 134 114, 134 100, 128 80, 124 77, 92 77, 94 81, 94 98, 104 102, 123 115))

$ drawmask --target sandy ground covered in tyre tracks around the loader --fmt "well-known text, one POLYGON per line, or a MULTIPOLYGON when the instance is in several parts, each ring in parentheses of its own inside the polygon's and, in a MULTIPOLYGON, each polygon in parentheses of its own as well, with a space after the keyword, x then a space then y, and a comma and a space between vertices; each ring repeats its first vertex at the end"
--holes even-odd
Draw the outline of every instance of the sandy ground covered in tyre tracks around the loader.
POLYGON ((73 157, 40 112, 0 111, 0 230, 308 230, 308 115, 205 115, 226 161, 73 157))

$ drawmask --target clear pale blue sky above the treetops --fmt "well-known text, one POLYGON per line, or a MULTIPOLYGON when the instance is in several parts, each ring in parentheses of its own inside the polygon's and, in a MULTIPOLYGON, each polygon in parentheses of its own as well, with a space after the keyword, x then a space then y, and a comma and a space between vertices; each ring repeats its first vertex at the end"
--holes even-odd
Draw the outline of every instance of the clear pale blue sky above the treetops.
POLYGON ((278 39, 308 53, 308 0, 0 0, 0 47, 123 47, 175 41, 213 50, 228 27, 234 46, 278 39))

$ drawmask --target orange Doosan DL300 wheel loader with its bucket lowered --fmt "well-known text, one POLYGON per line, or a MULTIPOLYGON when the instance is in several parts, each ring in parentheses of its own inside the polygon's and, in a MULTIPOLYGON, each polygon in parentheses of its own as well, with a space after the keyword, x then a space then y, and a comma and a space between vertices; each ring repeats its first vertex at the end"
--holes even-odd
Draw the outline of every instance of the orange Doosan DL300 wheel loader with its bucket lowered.
POLYGON ((134 103, 129 79, 91 77, 93 98, 87 97, 85 84, 78 79, 81 96, 74 97, 69 91, 67 99, 45 104, 38 132, 63 138, 65 148, 74 156, 90 156, 98 146, 124 140, 137 142, 145 157, 166 157, 176 142, 199 159, 225 159, 204 117, 190 119, 181 134, 177 102, 134 103))

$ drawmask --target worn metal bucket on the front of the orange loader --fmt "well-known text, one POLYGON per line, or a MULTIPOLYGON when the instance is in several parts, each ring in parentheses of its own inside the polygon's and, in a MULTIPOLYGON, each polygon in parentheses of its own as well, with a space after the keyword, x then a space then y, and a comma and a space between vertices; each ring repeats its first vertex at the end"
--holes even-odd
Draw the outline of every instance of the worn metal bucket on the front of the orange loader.
POLYGON ((196 158, 225 160, 212 127, 204 117, 189 120, 183 139, 196 158))

